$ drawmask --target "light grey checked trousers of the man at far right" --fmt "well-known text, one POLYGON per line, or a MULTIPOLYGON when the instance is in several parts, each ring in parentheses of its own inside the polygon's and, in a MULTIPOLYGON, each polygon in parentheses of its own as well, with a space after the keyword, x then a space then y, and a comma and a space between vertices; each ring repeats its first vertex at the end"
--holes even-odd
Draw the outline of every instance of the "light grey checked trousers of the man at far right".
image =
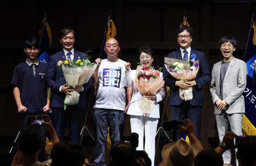
MULTIPOLYGON (((217 129, 219 141, 222 142, 224 135, 229 132, 228 123, 230 124, 231 131, 236 135, 243 135, 242 123, 243 123, 243 113, 233 113, 228 114, 226 111, 222 111, 220 114, 216 115, 217 129)), ((235 139, 234 139, 235 142, 235 139)), ((235 149, 237 152, 237 148, 235 149)), ((231 164, 231 150, 227 149, 223 155, 224 164, 231 164)), ((236 155, 235 155, 236 157, 236 155)), ((238 160, 236 159, 236 165, 238 166, 238 160)))

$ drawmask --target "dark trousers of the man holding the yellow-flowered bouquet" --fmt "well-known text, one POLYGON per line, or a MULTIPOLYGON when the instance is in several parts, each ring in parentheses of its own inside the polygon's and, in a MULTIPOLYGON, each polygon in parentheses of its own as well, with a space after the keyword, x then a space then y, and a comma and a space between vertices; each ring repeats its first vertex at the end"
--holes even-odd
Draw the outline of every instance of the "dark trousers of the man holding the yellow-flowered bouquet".
POLYGON ((53 107, 55 130, 60 140, 64 139, 65 129, 68 117, 71 129, 71 141, 81 142, 82 120, 85 108, 69 105, 64 110, 64 107, 53 107))

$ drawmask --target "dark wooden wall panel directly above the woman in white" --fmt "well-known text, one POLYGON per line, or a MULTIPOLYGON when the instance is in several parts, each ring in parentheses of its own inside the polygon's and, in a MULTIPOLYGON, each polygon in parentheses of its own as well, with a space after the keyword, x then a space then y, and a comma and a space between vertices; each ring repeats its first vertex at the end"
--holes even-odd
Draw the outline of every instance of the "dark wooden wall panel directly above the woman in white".
POLYGON ((159 41, 159 5, 124 3, 123 41, 159 41))

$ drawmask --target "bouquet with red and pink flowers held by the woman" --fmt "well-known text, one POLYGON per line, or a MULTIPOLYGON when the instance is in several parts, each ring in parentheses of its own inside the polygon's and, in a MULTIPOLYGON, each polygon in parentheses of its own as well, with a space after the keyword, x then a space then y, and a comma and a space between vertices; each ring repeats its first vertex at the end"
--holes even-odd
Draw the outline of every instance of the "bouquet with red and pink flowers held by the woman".
POLYGON ((140 108, 142 110, 142 113, 144 116, 145 114, 151 114, 151 112, 154 109, 154 103, 152 100, 148 100, 145 97, 146 93, 156 93, 159 91, 161 87, 164 85, 164 80, 163 78, 159 77, 160 76, 160 71, 163 68, 160 68, 158 70, 148 70, 146 73, 144 73, 144 69, 142 68, 143 66, 139 65, 137 66, 136 70, 136 78, 135 78, 135 85, 138 89, 138 91, 141 92, 142 95, 142 100, 140 102, 140 108), (159 71, 160 70, 160 71, 159 71))

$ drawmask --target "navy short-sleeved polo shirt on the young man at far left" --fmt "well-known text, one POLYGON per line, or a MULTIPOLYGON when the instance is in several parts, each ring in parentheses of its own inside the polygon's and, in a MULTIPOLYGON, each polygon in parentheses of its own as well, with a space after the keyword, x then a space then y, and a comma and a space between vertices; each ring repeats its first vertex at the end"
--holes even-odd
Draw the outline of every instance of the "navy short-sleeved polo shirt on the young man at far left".
POLYGON ((43 112, 47 104, 47 66, 38 60, 34 64, 26 60, 14 69, 11 84, 19 86, 21 102, 28 113, 43 112))

